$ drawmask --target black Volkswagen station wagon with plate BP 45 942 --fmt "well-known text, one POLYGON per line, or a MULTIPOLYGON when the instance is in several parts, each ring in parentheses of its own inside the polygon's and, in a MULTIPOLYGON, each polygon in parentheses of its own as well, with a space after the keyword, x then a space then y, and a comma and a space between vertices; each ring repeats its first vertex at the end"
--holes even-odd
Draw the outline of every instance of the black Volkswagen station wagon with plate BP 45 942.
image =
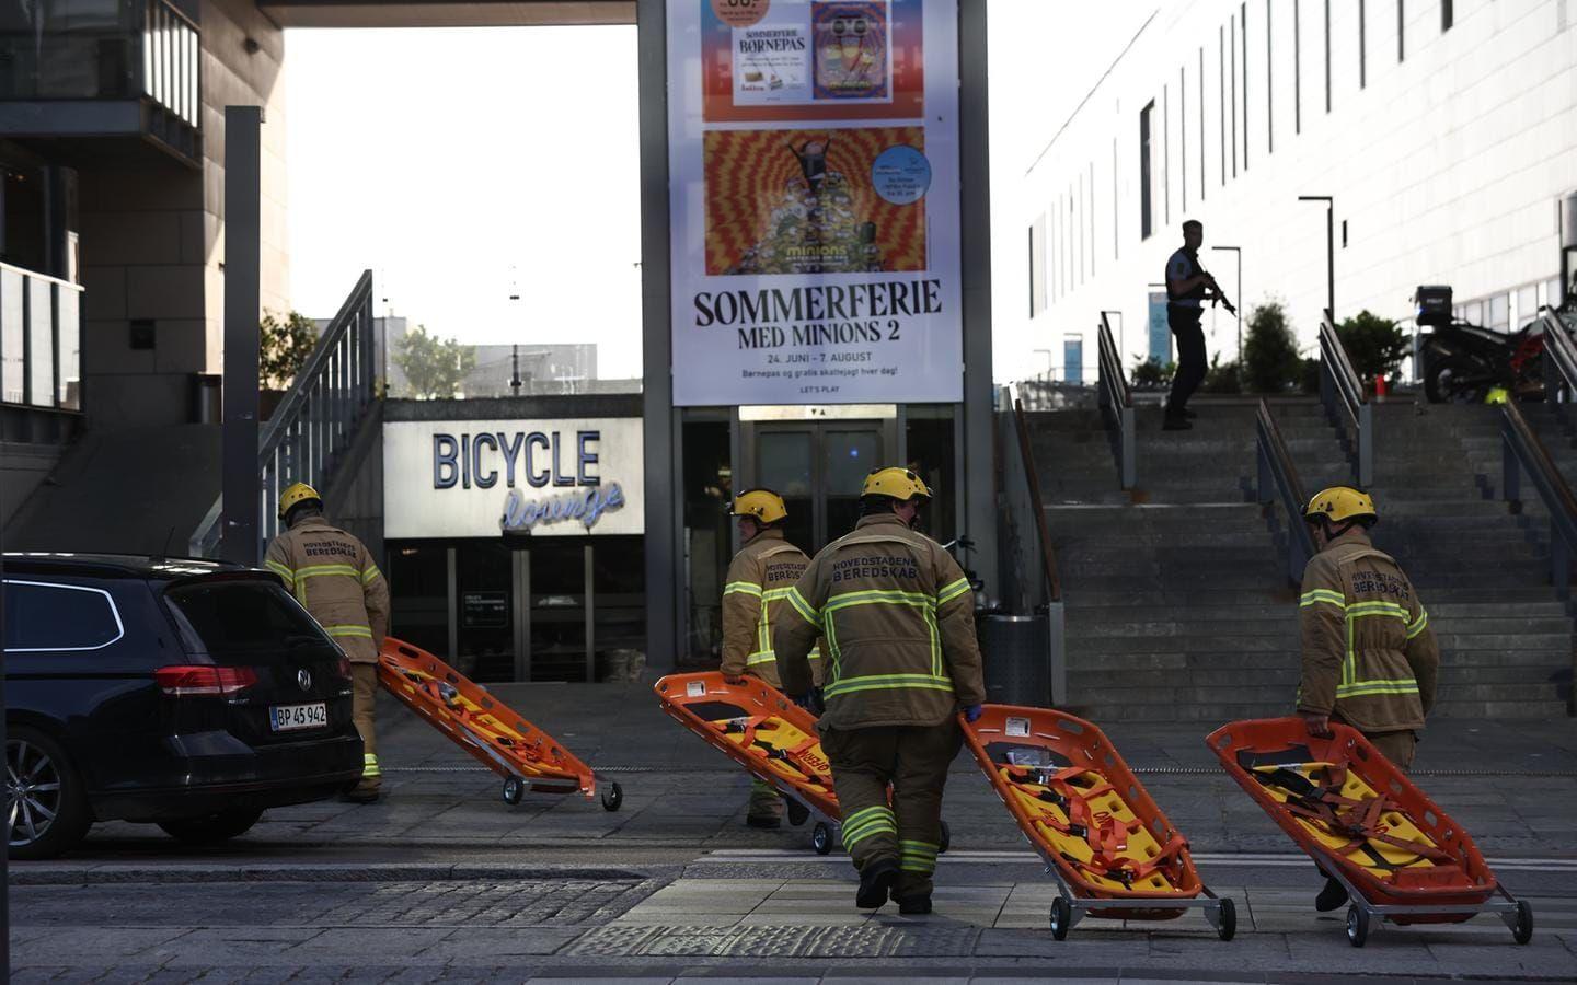
POLYGON ((350 663, 267 571, 126 555, 5 555, 9 856, 93 821, 185 842, 361 775, 350 663))

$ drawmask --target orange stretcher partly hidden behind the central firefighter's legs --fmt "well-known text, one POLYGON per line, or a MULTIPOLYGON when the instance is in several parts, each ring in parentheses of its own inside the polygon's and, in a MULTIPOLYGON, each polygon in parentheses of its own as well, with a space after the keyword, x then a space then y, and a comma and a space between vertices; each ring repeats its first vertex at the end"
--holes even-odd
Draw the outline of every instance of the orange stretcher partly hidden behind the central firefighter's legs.
MULTIPOLYGON (((708 745, 815 816, 811 846, 828 854, 842 842, 842 812, 833 790, 833 766, 822 752, 817 717, 759 678, 729 684, 710 670, 669 675, 653 690, 662 711, 708 745)), ((941 826, 941 851, 949 831, 941 826)))

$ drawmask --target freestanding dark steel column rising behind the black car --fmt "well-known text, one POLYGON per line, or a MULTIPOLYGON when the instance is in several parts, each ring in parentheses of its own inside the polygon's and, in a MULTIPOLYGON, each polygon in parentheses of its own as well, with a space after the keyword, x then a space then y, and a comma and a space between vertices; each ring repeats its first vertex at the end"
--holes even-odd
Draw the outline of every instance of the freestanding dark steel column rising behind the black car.
POLYGON ((224 107, 224 514, 219 556, 259 563, 260 106, 224 107))

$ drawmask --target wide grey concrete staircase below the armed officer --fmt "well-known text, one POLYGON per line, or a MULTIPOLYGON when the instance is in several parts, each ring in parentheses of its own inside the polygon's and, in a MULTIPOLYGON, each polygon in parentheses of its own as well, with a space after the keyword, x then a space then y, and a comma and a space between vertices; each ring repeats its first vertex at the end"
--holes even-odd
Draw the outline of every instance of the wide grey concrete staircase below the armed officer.
MULTIPOLYGON (((1071 704, 1099 720, 1217 723, 1292 708, 1298 610, 1285 520, 1268 533, 1252 501, 1255 402, 1195 407, 1189 432, 1162 432, 1158 408, 1137 411, 1132 493, 1118 489, 1094 411, 1031 416, 1061 566, 1071 704)), ((1351 482, 1317 400, 1273 408, 1306 492, 1351 482)), ((1544 522, 1492 498, 1498 413, 1375 410, 1377 544, 1407 567, 1446 652, 1437 714, 1564 714, 1572 626, 1549 588, 1544 522)))

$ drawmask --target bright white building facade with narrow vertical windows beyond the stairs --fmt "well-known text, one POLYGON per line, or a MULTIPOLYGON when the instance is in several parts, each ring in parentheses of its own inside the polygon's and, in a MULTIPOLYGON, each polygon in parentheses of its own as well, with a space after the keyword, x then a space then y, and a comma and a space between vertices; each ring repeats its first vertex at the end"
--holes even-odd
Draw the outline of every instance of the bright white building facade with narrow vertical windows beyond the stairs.
MULTIPOLYGON (((1200 257, 1235 295, 1232 254, 1210 246, 1243 247, 1240 307, 1284 298, 1312 347, 1326 299, 1325 206, 1299 194, 1336 199, 1337 317, 1367 307, 1410 318, 1419 284, 1451 284, 1457 301, 1509 296, 1512 325, 1533 314, 1517 310, 1519 288, 1522 309, 1549 299, 1556 199, 1577 188, 1577 3, 1459 0, 1441 32, 1440 2, 1410 0, 1399 61, 1399 5, 1369 0, 1363 85, 1359 5, 1328 6, 1329 112, 1326 3, 1194 0, 1161 6, 1110 74, 1088 80, 1094 90, 1055 139, 1063 121, 1044 121, 1050 143, 1025 178, 1019 221, 1047 224, 1047 304, 1031 318, 1025 284, 1025 301, 997 312, 1033 339, 1016 358, 1041 369, 1030 350, 1050 348, 1064 370, 1064 337, 1079 334, 1091 380, 1093 326, 1117 309, 1131 364, 1145 351, 1146 284, 1162 279, 1184 219, 1205 222, 1200 257), (1151 101, 1154 232, 1142 238, 1139 120, 1151 101)), ((1030 276, 1025 254, 998 268, 1030 276)), ((1206 314, 1205 328, 1222 362, 1235 358, 1233 320, 1206 314)))

